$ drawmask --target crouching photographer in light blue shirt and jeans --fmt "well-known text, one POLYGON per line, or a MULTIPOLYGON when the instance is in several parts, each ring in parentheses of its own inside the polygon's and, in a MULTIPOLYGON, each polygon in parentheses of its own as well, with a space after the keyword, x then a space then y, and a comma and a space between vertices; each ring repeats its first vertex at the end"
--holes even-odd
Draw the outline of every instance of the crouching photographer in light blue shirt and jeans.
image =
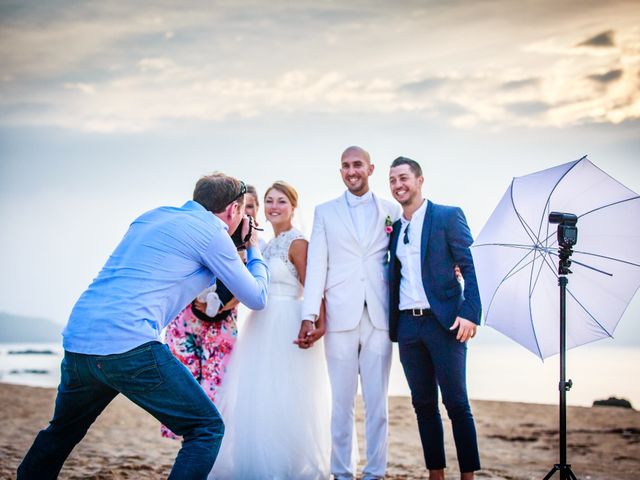
POLYGON ((244 242, 246 265, 230 237, 244 218, 246 190, 235 178, 209 175, 196 183, 193 200, 131 223, 71 312, 53 418, 23 459, 19 479, 57 477, 119 393, 183 437, 169 478, 207 477, 222 442, 222 419, 159 336, 216 279, 249 308, 265 307, 269 273, 257 232, 244 242))

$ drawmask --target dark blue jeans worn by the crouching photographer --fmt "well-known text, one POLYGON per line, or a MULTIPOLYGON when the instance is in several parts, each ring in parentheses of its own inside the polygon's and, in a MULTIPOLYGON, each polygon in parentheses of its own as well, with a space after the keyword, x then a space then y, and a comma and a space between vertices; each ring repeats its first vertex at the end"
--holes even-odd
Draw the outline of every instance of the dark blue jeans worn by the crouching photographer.
POLYGON ((57 478, 71 450, 118 393, 183 437, 170 479, 207 478, 224 424, 166 345, 148 342, 115 355, 65 352, 61 371, 53 418, 22 460, 18 479, 57 478))

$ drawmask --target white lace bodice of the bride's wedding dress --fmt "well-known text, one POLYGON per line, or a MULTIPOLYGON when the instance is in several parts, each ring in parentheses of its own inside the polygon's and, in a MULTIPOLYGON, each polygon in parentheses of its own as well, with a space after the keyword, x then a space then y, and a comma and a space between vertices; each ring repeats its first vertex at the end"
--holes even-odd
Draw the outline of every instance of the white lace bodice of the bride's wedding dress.
POLYGON ((265 247, 262 255, 269 265, 270 295, 302 296, 302 285, 295 265, 289 260, 291 242, 303 239, 304 235, 295 228, 282 232, 272 238, 265 247))

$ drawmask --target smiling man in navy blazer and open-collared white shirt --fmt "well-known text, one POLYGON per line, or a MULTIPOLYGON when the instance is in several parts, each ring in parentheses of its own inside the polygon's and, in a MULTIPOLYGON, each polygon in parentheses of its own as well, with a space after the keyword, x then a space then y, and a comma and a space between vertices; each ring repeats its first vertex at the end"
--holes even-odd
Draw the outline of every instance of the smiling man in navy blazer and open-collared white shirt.
POLYGON ((462 210, 422 196, 420 165, 391 164, 391 194, 402 206, 394 223, 389 263, 389 336, 398 342, 430 480, 446 467, 438 387, 453 427, 461 478, 480 469, 476 429, 466 387, 466 342, 480 324, 480 294, 462 210), (464 291, 455 266, 464 278, 464 291))

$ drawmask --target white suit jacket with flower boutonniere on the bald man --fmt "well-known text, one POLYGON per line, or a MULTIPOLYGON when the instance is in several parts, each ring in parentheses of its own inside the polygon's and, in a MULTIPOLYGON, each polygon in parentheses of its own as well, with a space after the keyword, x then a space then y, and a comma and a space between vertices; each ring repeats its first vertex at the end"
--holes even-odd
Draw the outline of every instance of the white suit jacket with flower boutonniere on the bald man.
POLYGON ((367 304, 376 328, 389 329, 387 217, 395 221, 400 207, 373 195, 377 218, 366 238, 356 234, 346 194, 315 209, 307 254, 302 318, 318 315, 325 297, 327 331, 352 330, 367 304))

